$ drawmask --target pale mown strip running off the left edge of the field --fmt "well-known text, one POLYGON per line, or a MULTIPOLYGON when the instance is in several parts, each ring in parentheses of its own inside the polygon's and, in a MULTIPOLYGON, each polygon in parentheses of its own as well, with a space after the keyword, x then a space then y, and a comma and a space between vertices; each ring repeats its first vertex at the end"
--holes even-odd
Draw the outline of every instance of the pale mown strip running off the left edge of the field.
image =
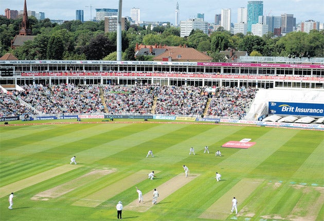
POLYGON ((27 187, 30 187, 32 185, 35 185, 39 182, 45 181, 47 179, 53 178, 55 176, 61 175, 63 173, 69 172, 71 170, 75 170, 79 167, 83 167, 82 165, 61 165, 60 167, 53 168, 48 171, 44 171, 42 173, 39 173, 37 175, 10 183, 7 186, 0 188, 0 198, 4 197, 6 195, 9 195, 11 192, 17 192, 19 190, 25 189, 27 187))

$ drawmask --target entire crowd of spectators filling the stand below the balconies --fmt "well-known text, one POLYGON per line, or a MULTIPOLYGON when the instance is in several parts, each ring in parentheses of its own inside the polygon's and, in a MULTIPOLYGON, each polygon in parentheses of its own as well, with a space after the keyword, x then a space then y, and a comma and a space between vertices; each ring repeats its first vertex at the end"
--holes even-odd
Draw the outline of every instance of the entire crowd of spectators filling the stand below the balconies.
POLYGON ((239 117, 255 98, 256 88, 217 87, 216 93, 206 93, 205 87, 154 85, 23 85, 24 91, 0 94, 4 116, 35 115, 28 105, 42 114, 165 114, 203 115, 208 97, 212 96, 207 116, 239 117), (156 99, 153 105, 153 99, 156 99), (104 108, 106 106, 106 110, 104 108), (154 109, 153 109, 154 108, 154 109))

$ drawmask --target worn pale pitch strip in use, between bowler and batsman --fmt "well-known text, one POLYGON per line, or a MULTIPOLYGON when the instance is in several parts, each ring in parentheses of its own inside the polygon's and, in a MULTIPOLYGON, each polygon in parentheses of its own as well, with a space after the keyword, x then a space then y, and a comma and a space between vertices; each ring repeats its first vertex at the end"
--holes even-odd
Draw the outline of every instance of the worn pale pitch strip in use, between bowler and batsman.
MULTIPOLYGON (((158 191, 159 194, 159 197, 157 197, 157 204, 198 176, 200 176, 200 174, 190 174, 188 177, 185 177, 184 173, 181 173, 173 177, 172 179, 168 180, 167 182, 163 183, 162 185, 156 187, 156 190, 158 191)), ((152 205, 153 191, 154 190, 143 195, 144 202, 138 202, 138 199, 136 199, 133 202, 131 202, 129 205, 125 206, 123 210, 136 211, 136 212, 147 211, 153 206, 152 205)))

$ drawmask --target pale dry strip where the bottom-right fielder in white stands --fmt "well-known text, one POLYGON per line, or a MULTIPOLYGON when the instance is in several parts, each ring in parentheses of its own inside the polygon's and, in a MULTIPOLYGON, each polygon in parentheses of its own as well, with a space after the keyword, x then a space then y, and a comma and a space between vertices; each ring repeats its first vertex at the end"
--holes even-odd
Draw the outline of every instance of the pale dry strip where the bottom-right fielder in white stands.
MULTIPOLYGON (((232 199, 235 197, 238 200, 238 205, 242 203, 257 187, 263 182, 263 179, 240 180, 235 186, 227 191, 213 205, 211 205, 199 218, 225 220, 230 215, 232 209, 232 199), (244 191, 243 191, 244 190, 244 191)), ((240 211, 238 210, 238 213, 240 211)), ((235 212, 233 213, 235 215, 235 212)))

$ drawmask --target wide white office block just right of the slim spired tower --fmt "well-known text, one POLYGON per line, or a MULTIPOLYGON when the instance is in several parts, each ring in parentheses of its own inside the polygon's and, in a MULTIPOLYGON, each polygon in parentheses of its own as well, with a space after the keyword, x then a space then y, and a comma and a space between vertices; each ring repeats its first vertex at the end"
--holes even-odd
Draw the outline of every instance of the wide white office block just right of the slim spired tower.
POLYGON ((180 36, 183 38, 189 36, 190 32, 196 29, 202 30, 205 34, 208 34, 208 23, 201 19, 189 19, 187 21, 181 21, 180 23, 180 36))

